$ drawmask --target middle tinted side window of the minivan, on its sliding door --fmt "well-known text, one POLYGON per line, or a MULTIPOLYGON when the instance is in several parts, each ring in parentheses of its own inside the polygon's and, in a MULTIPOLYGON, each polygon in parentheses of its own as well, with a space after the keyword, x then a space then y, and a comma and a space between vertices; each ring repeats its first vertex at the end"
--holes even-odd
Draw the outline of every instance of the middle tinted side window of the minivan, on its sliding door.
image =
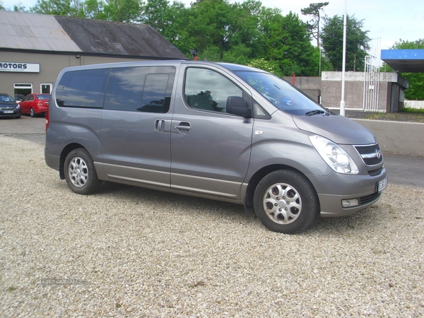
POLYGON ((173 66, 136 66, 112 69, 105 110, 166 113, 170 109, 173 66))

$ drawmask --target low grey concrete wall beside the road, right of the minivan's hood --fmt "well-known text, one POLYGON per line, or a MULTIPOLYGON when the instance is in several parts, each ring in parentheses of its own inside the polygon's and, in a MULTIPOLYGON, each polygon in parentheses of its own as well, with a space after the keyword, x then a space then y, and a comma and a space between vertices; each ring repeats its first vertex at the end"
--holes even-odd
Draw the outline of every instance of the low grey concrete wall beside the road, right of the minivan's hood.
POLYGON ((424 155, 424 124, 387 120, 352 119, 372 131, 382 151, 424 155))

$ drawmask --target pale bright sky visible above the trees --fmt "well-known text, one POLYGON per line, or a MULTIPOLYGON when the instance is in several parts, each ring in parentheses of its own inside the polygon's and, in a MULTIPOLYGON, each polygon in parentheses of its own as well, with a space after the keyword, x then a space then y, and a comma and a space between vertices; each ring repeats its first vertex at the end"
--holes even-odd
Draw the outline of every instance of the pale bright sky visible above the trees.
MULTIPOLYGON (((21 3, 27 9, 37 2, 36 0, 0 1, 3 1, 5 8, 13 8, 14 4, 21 3)), ((302 20, 307 20, 307 16, 302 16, 300 9, 320 1, 322 0, 262 0, 262 4, 269 8, 280 8, 283 16, 292 11, 302 20)), ((192 0, 182 2, 189 6, 192 0)), ((343 16, 345 0, 328 2, 329 5, 324 7, 327 16, 343 16)), ((349 16, 355 15, 357 20, 364 20, 363 30, 369 31, 368 36, 373 40, 371 44, 374 44, 375 49, 378 43, 380 49, 389 49, 399 39, 408 41, 424 39, 424 0, 347 0, 347 12, 349 16)))

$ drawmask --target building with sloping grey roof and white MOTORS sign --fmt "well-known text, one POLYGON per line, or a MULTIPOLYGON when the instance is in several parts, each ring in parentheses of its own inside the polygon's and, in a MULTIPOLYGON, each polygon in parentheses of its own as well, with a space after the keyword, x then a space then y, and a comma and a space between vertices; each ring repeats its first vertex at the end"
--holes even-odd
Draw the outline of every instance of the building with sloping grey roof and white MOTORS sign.
POLYGON ((0 92, 50 93, 68 66, 187 59, 150 25, 0 10, 0 92))

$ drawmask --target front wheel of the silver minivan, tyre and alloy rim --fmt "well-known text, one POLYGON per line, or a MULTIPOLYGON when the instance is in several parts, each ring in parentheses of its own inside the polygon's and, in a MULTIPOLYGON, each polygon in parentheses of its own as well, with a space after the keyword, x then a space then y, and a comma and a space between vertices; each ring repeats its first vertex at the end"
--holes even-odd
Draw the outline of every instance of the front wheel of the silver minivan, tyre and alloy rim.
POLYGON ((257 185, 254 210, 269 230, 293 234, 313 223, 319 213, 319 201, 304 175, 293 170, 276 170, 257 185))

